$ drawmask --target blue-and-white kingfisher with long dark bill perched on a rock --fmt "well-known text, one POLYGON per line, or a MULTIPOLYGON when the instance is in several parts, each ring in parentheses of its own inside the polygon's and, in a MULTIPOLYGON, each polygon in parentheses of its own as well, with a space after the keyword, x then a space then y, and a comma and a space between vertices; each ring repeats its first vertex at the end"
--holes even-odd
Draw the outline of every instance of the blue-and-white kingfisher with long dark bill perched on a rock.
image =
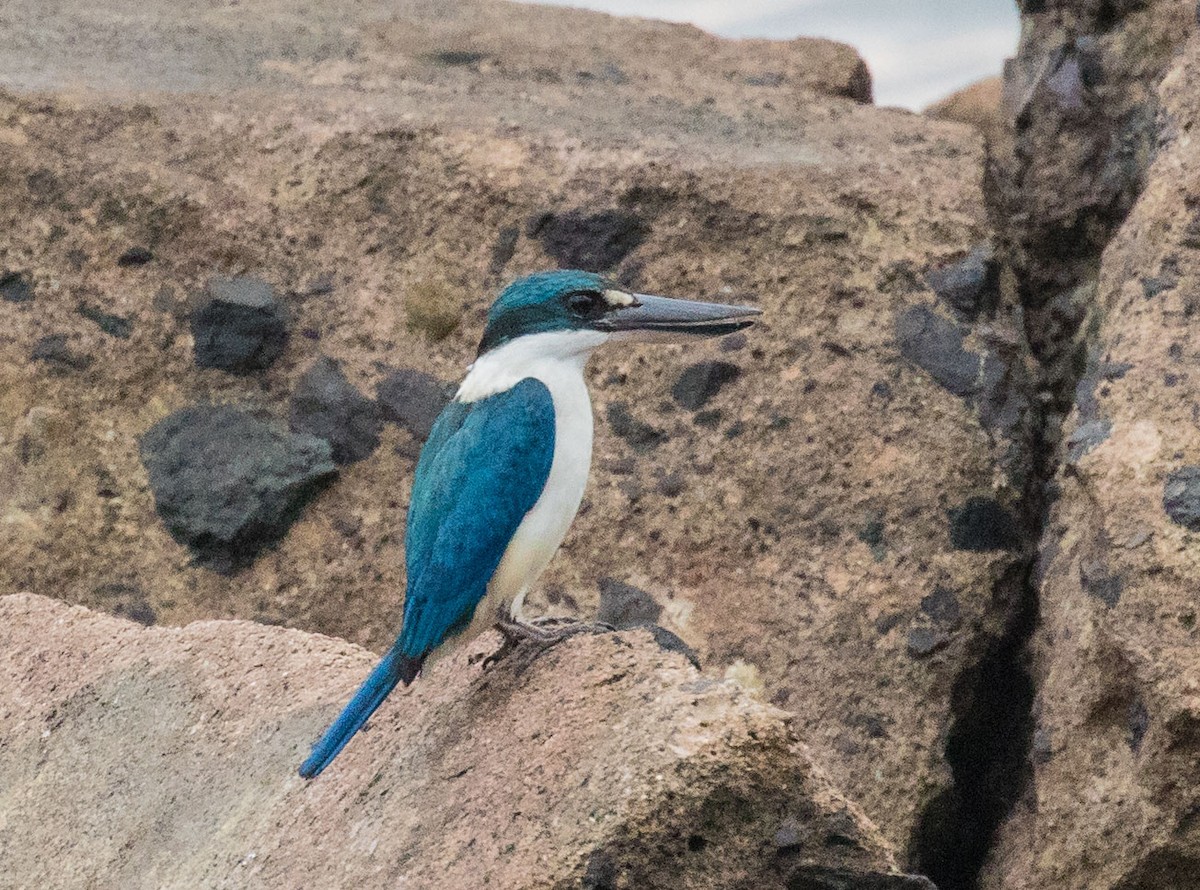
POLYGON ((400 635, 313 746, 301 776, 319 775, 451 638, 494 625, 506 636, 553 642, 521 619, 521 607, 583 499, 593 439, 583 372, 593 350, 732 333, 758 314, 751 306, 640 294, 580 270, 536 272, 502 290, 475 361, 418 458, 400 635))

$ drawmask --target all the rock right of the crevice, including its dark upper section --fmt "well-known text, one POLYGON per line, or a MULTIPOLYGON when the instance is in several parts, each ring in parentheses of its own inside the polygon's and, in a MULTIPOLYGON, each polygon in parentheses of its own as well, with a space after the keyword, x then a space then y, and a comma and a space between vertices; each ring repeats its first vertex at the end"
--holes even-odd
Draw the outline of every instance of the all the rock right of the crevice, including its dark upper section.
POLYGON ((1030 264, 1019 281, 1031 297, 1040 282, 1094 283, 1078 329, 1049 307, 1026 317, 1051 369, 1078 374, 1085 356, 1086 369, 1078 386, 1063 373, 1056 404, 1068 465, 1050 480, 1030 647, 1045 735, 980 886, 1194 888, 1200 380, 1188 373, 1188 291, 1200 255, 1187 242, 1200 186, 1180 170, 1200 164, 1187 137, 1200 122, 1195 5, 1046 6, 1027 18, 1015 62, 1031 95, 1016 209, 1037 208, 1009 223, 1031 251, 1018 254, 1030 264), (1037 79, 1063 52, 1079 61, 1084 112, 1037 79))

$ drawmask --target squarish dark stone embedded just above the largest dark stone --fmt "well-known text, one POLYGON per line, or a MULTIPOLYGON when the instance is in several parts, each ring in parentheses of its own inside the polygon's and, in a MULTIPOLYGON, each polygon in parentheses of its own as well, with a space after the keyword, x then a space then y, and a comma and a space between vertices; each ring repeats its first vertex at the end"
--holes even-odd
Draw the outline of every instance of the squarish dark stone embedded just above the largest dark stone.
POLYGON ((288 318, 274 288, 260 278, 215 276, 192 313, 192 336, 198 367, 248 374, 282 355, 288 318))

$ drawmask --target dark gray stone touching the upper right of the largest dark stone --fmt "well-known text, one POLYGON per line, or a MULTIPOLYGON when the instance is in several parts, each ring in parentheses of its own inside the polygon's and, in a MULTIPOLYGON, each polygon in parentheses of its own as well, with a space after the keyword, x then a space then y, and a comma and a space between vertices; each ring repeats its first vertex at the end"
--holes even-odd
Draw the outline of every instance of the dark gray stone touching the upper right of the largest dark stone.
POLYGON ((346 379, 336 361, 323 355, 292 392, 288 426, 293 433, 328 441, 334 463, 346 465, 374 453, 383 421, 376 403, 346 379))

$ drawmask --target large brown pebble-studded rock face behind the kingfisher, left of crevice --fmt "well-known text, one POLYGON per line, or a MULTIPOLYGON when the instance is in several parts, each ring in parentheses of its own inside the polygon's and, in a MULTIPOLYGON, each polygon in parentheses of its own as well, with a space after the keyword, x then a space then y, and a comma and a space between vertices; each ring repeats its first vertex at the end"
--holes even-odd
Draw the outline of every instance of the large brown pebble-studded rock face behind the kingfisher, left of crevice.
POLYGON ((90 83, 119 100, 0 97, 0 269, 34 294, 0 301, 0 588, 378 649, 439 381, 473 360, 505 279, 570 260, 751 302, 763 321, 743 335, 595 357, 593 481, 530 611, 592 618, 605 577, 646 591, 707 669, 794 715, 906 867, 955 855, 947 825, 970 832, 964 800, 995 794, 947 745, 990 757, 977 693, 1006 657, 1028 543, 1016 331, 929 283, 990 241, 974 132, 829 97, 847 91, 828 86, 836 60, 857 62, 833 44, 488 4, 434 20, 361 2, 334 28, 323 7, 264 2, 230 29, 232 7, 143 0, 119 31, 80 30, 90 7, 64 4, 65 59, 37 8, 5 7, 0 82, 60 88, 108 55, 90 83), (282 46, 271 10, 307 30, 282 46), (547 61, 538 41, 559 38, 547 61), (122 92, 130 42, 158 91, 122 92), (152 258, 122 264, 136 246, 152 258), (252 276, 286 311, 266 367, 196 366, 214 276, 252 276), (938 336, 902 348, 902 319, 938 336), (47 336, 91 366, 31 361, 47 336), (397 422, 277 545, 232 575, 197 564, 155 512, 139 443, 205 404, 282 429, 320 356, 397 422), (728 368, 680 404, 697 362, 728 368))

